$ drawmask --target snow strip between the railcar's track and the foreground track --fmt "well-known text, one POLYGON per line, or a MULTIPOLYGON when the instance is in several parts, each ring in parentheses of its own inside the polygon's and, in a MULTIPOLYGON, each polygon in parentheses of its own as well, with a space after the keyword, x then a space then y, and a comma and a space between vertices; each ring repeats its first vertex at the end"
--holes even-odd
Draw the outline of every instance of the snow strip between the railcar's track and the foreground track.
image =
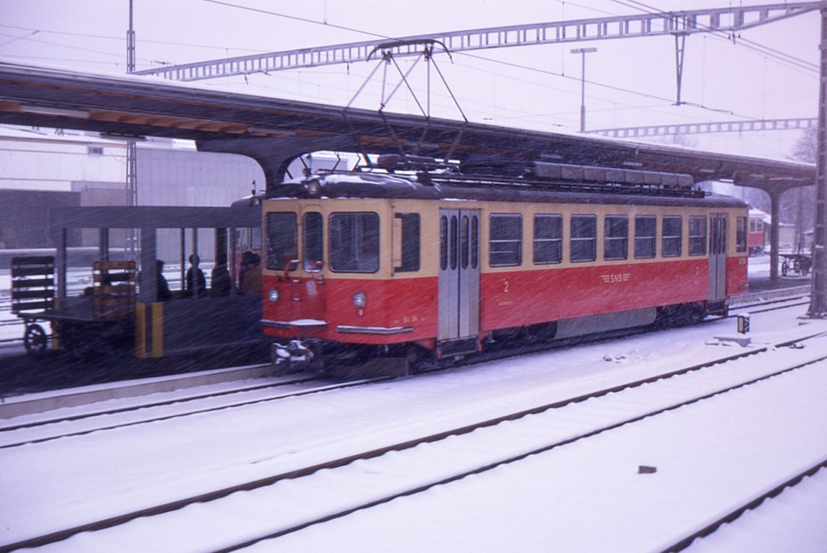
MULTIPOLYGON (((797 307, 754 315, 753 340, 767 343, 827 329, 824 322, 799 327, 796 316, 802 310, 797 307)), ((734 325, 733 320, 721 320, 318 397, 0 451, 2 488, 7 497, 16 498, 14 502, 3 502, 0 519, 10 521, 14 517, 17 522, 25 522, 28 518, 38 524, 46 521, 65 527, 90 517, 112 515, 124 503, 156 504, 199 489, 304 466, 327 457, 334 443, 363 450, 372 444, 384 445, 442 429, 446 424, 494 417, 509 412, 514 405, 524 408, 527 404, 552 402, 639 379, 654 371, 700 363, 718 357, 722 350, 741 350, 707 344, 712 336, 734 332, 734 325), (85 498, 82 508, 77 506, 79 497, 85 498)), ((729 415, 725 418, 729 420, 729 415)), ((736 428, 737 424, 733 422, 736 428)), ((609 460, 627 455, 624 451, 631 444, 619 441, 595 455, 609 460)), ((633 457, 634 463, 645 463, 650 458, 643 454, 633 457)), ((637 465, 633 466, 636 469, 637 465)), ((538 485, 545 485, 543 477, 539 480, 538 485)), ((523 497, 514 490, 500 491, 504 493, 502 498, 514 506, 533 497, 531 493, 523 497)), ((628 489, 621 491, 631 493, 628 489)), ((613 497, 612 501, 626 501, 621 493, 613 497)), ((494 508, 499 509, 495 512, 503 512, 502 502, 494 508)), ((560 506, 550 504, 546 508, 553 517, 560 506)), ((436 523, 442 509, 437 513, 429 515, 423 525, 436 523)), ((420 514, 415 520, 426 519, 420 514)), ((5 529, 0 528, 5 542, 27 532, 25 523, 7 523, 5 529)))

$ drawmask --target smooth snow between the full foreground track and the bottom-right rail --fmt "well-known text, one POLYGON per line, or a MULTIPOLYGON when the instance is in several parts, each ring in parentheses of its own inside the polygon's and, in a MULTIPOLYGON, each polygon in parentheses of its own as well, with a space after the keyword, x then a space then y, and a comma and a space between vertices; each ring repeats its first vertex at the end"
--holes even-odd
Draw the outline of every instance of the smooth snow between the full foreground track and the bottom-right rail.
MULTIPOLYGON (((722 504, 738 506, 824 458, 825 369, 716 396, 247 551, 325 551, 334 543, 340 553, 662 551, 714 520, 722 504), (639 474, 639 465, 657 473, 639 474)), ((764 551, 824 551, 827 527, 810 527, 805 542, 817 547, 809 550, 791 550, 788 537, 764 551)))

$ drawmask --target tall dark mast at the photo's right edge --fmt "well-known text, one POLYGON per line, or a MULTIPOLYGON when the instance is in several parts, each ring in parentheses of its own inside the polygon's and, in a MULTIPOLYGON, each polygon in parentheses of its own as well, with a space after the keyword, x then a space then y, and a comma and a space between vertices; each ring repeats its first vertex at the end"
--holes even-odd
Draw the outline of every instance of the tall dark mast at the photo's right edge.
POLYGON ((819 131, 815 158, 815 234, 810 317, 827 317, 827 6, 821 7, 821 76, 819 80, 819 131))

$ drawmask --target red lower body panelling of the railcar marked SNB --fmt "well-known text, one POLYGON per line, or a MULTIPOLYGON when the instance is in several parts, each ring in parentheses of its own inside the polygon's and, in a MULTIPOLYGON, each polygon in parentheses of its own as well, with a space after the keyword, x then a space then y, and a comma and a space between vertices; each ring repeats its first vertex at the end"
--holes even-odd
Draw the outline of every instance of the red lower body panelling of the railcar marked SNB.
MULTIPOLYGON (((480 329, 704 302, 709 264, 695 260, 517 270, 480 274, 480 329)), ((352 344, 433 341, 439 328, 438 279, 264 278, 262 318, 268 336, 352 344), (279 301, 268 299, 270 289, 279 301), (366 294, 357 308, 353 296, 366 294)), ((746 257, 727 260, 727 293, 743 293, 746 257)))

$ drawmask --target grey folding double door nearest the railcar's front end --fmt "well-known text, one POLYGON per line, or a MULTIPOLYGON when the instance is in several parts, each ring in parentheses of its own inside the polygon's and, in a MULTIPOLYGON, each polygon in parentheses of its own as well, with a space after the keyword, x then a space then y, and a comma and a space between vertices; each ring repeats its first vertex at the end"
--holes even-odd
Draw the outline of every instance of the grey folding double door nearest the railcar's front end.
POLYGON ((439 210, 439 350, 476 351, 480 331, 480 211, 439 210))

